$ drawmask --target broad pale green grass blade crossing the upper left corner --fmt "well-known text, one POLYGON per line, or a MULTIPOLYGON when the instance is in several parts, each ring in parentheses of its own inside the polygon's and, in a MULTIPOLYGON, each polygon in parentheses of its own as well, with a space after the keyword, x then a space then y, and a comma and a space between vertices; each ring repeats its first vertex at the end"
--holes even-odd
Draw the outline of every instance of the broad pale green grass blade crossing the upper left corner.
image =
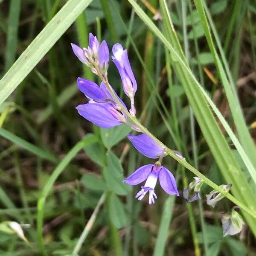
MULTIPOLYGON (((69 0, 44 27, 15 64, 0 80, 0 104, 15 90, 29 72, 58 41, 92 0, 69 0)), ((71 48, 70 48, 71 50, 71 48)))

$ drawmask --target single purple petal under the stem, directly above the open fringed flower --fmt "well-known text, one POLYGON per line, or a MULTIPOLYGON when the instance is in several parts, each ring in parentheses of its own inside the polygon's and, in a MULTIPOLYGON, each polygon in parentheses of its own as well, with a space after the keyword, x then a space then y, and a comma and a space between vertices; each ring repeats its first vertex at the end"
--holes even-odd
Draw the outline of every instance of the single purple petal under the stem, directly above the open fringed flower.
POLYGON ((134 147, 144 156, 149 158, 158 158, 162 154, 163 148, 146 134, 127 135, 134 147))

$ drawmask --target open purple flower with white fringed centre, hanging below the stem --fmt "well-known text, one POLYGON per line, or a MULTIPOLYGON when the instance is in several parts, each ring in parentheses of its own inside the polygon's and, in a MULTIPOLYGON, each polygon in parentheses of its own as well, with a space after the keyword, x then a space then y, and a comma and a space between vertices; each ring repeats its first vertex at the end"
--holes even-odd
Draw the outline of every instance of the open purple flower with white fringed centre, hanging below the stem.
POLYGON ((146 180, 145 185, 141 187, 141 190, 137 193, 135 198, 142 200, 147 192, 149 192, 148 203, 154 204, 155 198, 157 198, 154 188, 159 179, 160 186, 169 195, 179 195, 177 190, 175 177, 169 172, 168 169, 161 166, 160 162, 148 164, 137 169, 133 174, 127 177, 124 182, 129 185, 137 185, 146 180))

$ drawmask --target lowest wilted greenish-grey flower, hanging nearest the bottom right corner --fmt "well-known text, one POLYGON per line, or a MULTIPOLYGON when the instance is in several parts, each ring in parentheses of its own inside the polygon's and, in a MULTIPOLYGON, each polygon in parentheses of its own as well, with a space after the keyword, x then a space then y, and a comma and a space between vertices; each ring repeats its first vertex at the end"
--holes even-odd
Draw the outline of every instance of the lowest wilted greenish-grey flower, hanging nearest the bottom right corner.
POLYGON ((223 214, 221 218, 223 236, 235 235, 242 230, 244 221, 241 215, 236 211, 238 207, 233 207, 230 214, 223 214))

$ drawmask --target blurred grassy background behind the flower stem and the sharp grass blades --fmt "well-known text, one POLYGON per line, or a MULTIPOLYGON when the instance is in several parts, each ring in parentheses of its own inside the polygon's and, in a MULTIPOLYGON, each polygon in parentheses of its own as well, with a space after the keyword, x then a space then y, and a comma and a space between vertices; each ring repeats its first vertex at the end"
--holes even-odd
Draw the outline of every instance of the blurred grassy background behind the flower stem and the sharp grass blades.
MULTIPOLYGON (((166 2, 189 66, 233 127, 229 104, 193 1, 166 2)), ((0 78, 65 3, 64 0, 0 0, 0 78)), ((158 1, 137 3, 163 30, 158 1)), ((255 142, 256 1, 205 3, 255 142)), ((77 77, 95 82, 98 79, 76 58, 70 43, 87 47, 89 32, 99 40, 105 39, 110 50, 116 42, 128 49, 138 84, 137 116, 143 125, 169 148, 181 151, 209 179, 226 184, 201 129, 191 116, 184 89, 168 64, 163 44, 128 1, 93 0, 0 105, 0 222, 30 225, 23 227, 29 243, 15 233, 6 232, 5 224, 0 225, 0 255, 192 256, 206 255, 205 246, 208 256, 256 255, 256 240, 247 224, 239 235, 222 236, 221 216, 230 212, 233 207, 230 201, 223 199, 214 209, 208 206, 204 195, 212 189, 204 185, 202 200, 186 203, 183 187, 192 181, 193 175, 171 157, 166 157, 163 164, 175 175, 180 197, 168 196, 158 184, 157 201, 149 206, 147 198, 141 202, 134 198, 140 186, 122 183, 135 169, 154 161, 140 155, 125 138, 130 128, 98 128, 77 113, 75 107, 87 102, 77 89, 77 77), (84 137, 85 143, 79 144, 81 150, 72 154, 71 149, 84 137), (70 151, 72 161, 68 163, 65 157, 70 151), (66 166, 57 169, 60 176, 45 201, 40 235, 36 231, 36 219, 41 214, 37 211, 38 198, 63 159, 66 166), (74 251, 92 215, 96 220, 88 228, 80 250, 74 251), (40 245, 42 239, 45 250, 40 245)), ((112 62, 108 78, 128 103, 112 62)), ((222 126, 221 129, 226 137, 222 126)), ((232 143, 230 147, 250 184, 239 154, 232 143)), ((255 187, 252 189, 256 195, 255 187)))

